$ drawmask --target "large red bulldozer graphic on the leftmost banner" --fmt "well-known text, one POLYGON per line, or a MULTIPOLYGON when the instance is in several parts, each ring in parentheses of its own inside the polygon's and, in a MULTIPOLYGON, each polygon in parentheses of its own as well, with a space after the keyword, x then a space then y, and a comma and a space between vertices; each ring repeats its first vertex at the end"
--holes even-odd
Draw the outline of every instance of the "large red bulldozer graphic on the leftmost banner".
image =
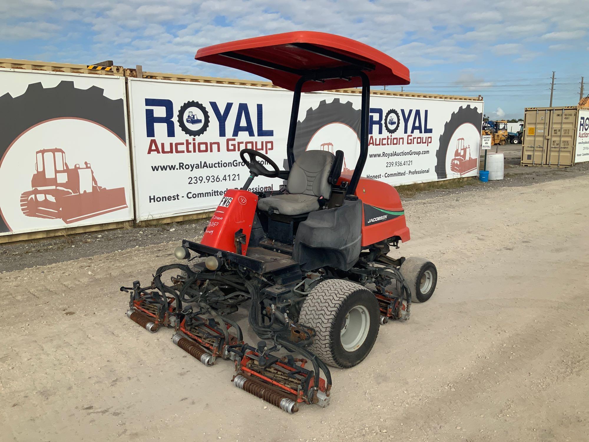
POLYGON ((127 208, 125 188, 98 186, 90 163, 69 167, 62 149, 38 150, 36 157, 32 190, 21 194, 24 215, 70 224, 127 208))

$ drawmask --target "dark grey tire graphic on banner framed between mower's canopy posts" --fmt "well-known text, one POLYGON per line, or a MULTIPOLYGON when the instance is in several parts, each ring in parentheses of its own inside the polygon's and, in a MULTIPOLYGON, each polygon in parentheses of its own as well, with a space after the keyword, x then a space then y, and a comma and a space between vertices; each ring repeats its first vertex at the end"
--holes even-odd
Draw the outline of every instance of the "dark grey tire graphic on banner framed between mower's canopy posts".
MULTIPOLYGON (((331 103, 322 100, 315 109, 310 107, 303 121, 297 122, 296 137, 294 138, 294 159, 296 160, 301 153, 307 150, 313 136, 329 124, 340 123, 348 126, 350 133, 353 131, 356 138, 358 138, 360 133, 360 113, 361 111, 355 109, 351 101, 342 103, 339 98, 334 98, 331 103)), ((321 149, 332 151, 332 153, 335 153, 336 150, 342 150, 338 146, 333 146, 332 143, 322 143, 321 149)), ((344 151, 344 153, 346 152, 344 151)), ((350 166, 352 165, 350 164, 350 166)))

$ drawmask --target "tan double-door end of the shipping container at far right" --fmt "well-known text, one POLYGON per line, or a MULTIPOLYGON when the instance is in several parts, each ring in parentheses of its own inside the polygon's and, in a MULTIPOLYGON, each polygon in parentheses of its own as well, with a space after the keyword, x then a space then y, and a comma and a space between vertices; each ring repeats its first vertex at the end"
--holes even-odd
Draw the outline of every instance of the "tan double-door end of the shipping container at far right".
POLYGON ((525 108, 521 165, 573 166, 577 121, 577 106, 525 108))

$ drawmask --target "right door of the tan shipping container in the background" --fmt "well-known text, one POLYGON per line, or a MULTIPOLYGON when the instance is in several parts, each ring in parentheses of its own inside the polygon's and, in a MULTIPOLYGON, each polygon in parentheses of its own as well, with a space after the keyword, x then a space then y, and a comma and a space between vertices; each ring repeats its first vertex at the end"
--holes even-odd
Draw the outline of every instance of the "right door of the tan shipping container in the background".
POLYGON ((550 139, 546 164, 549 166, 573 166, 577 109, 555 109, 550 118, 550 139))

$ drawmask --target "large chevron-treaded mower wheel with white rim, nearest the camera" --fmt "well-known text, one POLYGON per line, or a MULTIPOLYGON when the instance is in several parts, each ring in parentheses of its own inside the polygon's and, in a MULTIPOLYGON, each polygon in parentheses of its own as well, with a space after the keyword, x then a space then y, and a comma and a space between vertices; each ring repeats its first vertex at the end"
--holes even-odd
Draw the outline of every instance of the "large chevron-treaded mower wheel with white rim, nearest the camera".
POLYGON ((378 336, 380 309, 372 292, 344 279, 320 282, 307 295, 299 322, 316 331, 310 350, 327 365, 362 362, 378 336))

